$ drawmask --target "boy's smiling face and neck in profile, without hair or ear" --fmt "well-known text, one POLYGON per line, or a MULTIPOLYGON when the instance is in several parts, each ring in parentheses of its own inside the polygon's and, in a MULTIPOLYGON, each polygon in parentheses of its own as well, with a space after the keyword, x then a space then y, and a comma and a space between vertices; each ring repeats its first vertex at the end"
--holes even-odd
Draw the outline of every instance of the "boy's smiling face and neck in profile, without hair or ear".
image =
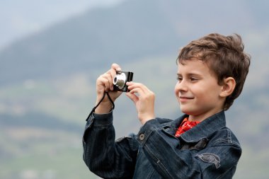
POLYGON ((207 64, 198 59, 178 64, 176 98, 181 111, 190 115, 190 120, 205 120, 222 110, 225 98, 219 96, 222 87, 207 64))

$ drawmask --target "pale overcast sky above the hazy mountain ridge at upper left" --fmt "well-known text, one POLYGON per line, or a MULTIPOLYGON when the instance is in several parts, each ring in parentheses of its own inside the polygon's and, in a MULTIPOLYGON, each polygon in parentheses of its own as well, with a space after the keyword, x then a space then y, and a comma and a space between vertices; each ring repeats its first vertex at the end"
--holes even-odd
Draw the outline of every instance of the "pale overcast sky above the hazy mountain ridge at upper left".
POLYGON ((0 50, 25 35, 96 6, 125 0, 1 0, 0 50))

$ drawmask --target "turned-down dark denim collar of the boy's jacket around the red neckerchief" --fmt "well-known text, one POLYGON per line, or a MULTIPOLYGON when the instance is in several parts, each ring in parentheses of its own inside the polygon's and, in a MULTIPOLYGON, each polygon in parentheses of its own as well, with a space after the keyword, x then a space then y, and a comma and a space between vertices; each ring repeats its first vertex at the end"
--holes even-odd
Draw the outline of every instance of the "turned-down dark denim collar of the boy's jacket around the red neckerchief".
MULTIPOLYGON (((185 117, 188 117, 188 115, 183 115, 177 120, 175 120, 172 126, 178 127, 178 125, 181 124, 185 117)), ((222 129, 223 127, 226 127, 226 120, 224 111, 221 111, 203 120, 187 132, 184 132, 183 134, 181 134, 180 138, 183 139, 185 142, 198 142, 202 138, 207 138, 210 134, 219 129, 222 129)))

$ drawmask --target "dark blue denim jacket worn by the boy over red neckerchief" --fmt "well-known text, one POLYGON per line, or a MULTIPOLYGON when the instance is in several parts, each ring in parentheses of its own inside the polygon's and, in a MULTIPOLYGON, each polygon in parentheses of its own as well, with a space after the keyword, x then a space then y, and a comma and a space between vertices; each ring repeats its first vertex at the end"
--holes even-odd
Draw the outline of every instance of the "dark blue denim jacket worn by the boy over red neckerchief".
POLYGON ((115 141, 113 112, 91 115, 83 137, 84 161, 101 178, 232 178, 241 146, 224 111, 175 137, 185 117, 156 118, 115 141))

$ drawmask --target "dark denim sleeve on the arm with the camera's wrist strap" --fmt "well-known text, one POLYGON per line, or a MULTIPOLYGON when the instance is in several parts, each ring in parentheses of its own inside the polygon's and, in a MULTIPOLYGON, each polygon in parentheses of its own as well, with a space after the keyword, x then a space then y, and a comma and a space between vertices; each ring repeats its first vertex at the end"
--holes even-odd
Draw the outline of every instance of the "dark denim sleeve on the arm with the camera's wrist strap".
POLYGON ((138 142, 133 134, 115 142, 112 112, 93 113, 86 123, 83 148, 86 166, 102 178, 132 178, 138 142))

